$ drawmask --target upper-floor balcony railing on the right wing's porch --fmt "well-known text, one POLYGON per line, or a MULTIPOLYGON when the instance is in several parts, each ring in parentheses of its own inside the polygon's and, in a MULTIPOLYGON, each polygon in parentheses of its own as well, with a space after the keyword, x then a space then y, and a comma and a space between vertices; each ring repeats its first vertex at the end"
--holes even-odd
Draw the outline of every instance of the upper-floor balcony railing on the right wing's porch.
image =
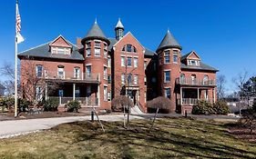
POLYGON ((203 79, 192 79, 192 78, 177 78, 176 84, 183 84, 183 85, 206 85, 206 86, 213 86, 216 85, 215 80, 203 80, 203 79))

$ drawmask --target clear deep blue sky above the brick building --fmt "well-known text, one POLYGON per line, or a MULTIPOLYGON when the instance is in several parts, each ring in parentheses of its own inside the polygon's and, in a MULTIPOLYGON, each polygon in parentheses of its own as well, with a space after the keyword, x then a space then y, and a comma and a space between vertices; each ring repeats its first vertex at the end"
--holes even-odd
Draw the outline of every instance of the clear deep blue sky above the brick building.
MULTIPOLYGON (((232 78, 243 70, 256 75, 256 1, 254 0, 19 0, 22 35, 19 51, 64 35, 76 43, 94 23, 108 37, 121 18, 126 32, 156 50, 169 28, 182 45, 182 54, 195 50, 202 61, 232 78)), ((0 65, 14 63, 15 0, 0 1, 0 65)), ((0 80, 4 80, 0 76, 0 80)))

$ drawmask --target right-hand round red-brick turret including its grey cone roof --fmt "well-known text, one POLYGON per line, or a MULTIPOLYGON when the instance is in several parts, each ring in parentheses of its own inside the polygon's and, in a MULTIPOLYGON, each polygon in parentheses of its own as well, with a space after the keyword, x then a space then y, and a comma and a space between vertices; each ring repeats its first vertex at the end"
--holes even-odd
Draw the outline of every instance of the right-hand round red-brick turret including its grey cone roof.
POLYGON ((175 80, 180 74, 181 49, 182 47, 168 30, 156 51, 159 55, 159 93, 170 99, 169 110, 172 113, 177 110, 175 80))

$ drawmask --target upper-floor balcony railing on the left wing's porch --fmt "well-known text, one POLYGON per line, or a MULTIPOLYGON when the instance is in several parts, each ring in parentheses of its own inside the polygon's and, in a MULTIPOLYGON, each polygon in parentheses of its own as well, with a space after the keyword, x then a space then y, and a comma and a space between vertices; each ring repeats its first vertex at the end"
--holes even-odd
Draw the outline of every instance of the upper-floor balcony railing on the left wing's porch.
POLYGON ((62 79, 62 80, 84 80, 91 82, 99 82, 99 74, 85 74, 85 73, 74 73, 74 72, 57 72, 57 71, 46 71, 42 75, 46 79, 62 79))

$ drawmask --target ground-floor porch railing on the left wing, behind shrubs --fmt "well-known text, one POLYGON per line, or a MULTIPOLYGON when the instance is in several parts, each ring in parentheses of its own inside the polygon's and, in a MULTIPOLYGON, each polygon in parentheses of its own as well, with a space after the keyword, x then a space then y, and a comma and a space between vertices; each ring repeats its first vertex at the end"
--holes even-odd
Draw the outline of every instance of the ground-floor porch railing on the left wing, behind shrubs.
MULTIPOLYGON (((56 99, 58 104, 67 104, 70 101, 73 101, 73 97, 60 97, 60 96, 48 96, 48 99, 56 99)), ((98 106, 98 98, 91 97, 75 97, 75 100, 78 101, 82 106, 98 106)))

